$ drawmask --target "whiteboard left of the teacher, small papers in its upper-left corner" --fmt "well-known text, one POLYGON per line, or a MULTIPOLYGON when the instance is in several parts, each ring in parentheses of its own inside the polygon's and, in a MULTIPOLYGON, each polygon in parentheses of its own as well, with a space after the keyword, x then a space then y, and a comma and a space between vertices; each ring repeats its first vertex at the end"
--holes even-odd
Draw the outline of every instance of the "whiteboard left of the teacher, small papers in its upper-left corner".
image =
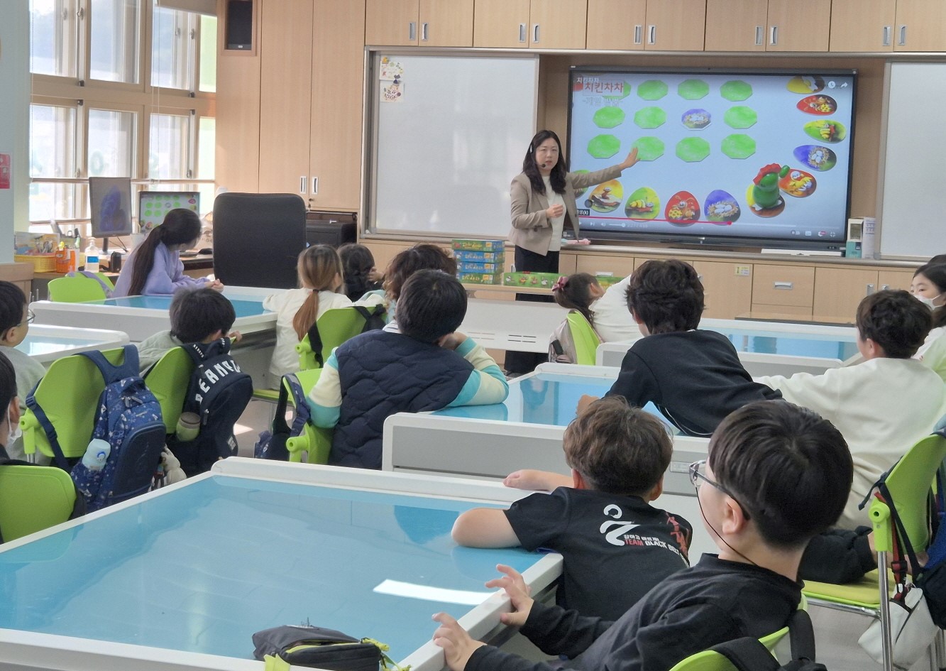
POLYGON ((369 232, 505 238, 535 132, 537 57, 385 52, 369 81, 369 232))

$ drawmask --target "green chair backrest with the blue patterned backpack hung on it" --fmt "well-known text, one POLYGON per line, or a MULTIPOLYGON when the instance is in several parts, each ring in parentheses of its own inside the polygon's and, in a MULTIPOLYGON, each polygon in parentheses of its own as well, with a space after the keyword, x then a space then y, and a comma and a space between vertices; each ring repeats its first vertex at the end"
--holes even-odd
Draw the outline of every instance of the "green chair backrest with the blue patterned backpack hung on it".
MULTIPOLYGON (((110 362, 117 363, 122 361, 124 350, 108 349, 102 354, 110 362)), ((96 364, 83 356, 73 355, 52 362, 33 392, 36 402, 56 429, 62 453, 67 458, 82 456, 89 446, 98 397, 104 389, 105 381, 96 364)), ((39 419, 28 407, 20 418, 20 427, 27 454, 40 451, 46 456, 55 456, 39 419)))

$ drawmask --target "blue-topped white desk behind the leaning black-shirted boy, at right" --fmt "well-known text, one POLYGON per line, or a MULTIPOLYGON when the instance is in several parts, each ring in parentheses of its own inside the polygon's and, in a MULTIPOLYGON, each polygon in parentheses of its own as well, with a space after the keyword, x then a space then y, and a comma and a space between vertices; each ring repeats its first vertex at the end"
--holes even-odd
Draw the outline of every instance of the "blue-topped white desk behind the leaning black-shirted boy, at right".
MULTIPOLYGON (((727 336, 739 359, 753 377, 818 375, 860 361, 857 329, 812 324, 771 324, 725 319, 704 319, 700 328, 727 336)), ((595 361, 599 365, 620 366, 632 343, 602 343, 595 361)))

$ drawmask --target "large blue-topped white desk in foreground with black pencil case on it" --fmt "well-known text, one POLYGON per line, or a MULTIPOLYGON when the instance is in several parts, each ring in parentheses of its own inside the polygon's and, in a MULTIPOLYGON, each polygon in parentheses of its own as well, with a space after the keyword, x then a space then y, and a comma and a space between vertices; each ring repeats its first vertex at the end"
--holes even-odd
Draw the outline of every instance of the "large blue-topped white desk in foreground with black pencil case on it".
MULTIPOLYGON (((430 615, 499 633, 496 564, 534 592, 561 556, 460 548, 489 483, 230 458, 210 473, 0 546, 0 662, 68 671, 262 671, 254 631, 310 621, 439 671, 430 615), (10 608, 9 604, 13 607, 10 608)), ((2 665, 2 664, 0 664, 2 665)))

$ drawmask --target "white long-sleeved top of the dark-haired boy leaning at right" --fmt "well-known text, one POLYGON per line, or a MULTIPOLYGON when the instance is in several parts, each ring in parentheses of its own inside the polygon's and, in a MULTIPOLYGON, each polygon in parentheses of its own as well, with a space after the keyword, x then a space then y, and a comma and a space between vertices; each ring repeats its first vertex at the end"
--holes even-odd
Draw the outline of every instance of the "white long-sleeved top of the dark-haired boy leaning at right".
POLYGON ((871 359, 823 375, 766 376, 757 382, 779 389, 790 403, 829 420, 848 442, 854 482, 837 525, 869 526, 867 506, 857 506, 881 475, 946 413, 946 387, 939 376, 912 359, 871 359))

